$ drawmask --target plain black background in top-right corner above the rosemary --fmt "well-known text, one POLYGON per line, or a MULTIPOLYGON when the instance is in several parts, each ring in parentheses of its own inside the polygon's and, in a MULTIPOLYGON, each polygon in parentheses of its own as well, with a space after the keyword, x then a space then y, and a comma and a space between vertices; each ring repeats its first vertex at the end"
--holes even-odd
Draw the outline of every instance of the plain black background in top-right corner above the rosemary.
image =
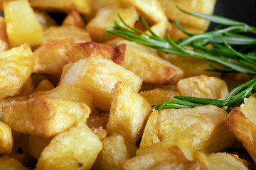
MULTIPOLYGON (((256 26, 256 0, 217 0, 214 14, 256 26)), ((209 30, 215 26, 210 23, 209 30)))

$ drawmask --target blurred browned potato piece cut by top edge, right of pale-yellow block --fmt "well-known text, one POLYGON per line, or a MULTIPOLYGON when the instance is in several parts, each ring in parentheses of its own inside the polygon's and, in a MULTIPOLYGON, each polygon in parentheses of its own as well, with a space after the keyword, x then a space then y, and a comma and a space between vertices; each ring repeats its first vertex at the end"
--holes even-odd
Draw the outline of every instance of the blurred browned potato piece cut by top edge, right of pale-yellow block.
POLYGON ((90 13, 90 0, 83 0, 83 1, 77 1, 77 0, 29 0, 31 3, 31 6, 43 8, 48 11, 64 11, 64 12, 70 12, 71 10, 75 9, 80 13, 86 14, 90 13))

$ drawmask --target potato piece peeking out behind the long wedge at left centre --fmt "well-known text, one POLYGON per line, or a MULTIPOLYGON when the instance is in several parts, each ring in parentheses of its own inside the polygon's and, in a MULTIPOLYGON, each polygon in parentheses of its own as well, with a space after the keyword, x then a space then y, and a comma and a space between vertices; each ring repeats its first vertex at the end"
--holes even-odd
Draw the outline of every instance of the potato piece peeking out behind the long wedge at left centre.
POLYGON ((63 84, 50 91, 38 91, 29 96, 29 98, 34 98, 36 96, 46 95, 53 98, 60 98, 68 101, 80 101, 85 102, 87 106, 94 109, 94 96, 91 92, 85 91, 75 86, 70 86, 68 84, 63 84))

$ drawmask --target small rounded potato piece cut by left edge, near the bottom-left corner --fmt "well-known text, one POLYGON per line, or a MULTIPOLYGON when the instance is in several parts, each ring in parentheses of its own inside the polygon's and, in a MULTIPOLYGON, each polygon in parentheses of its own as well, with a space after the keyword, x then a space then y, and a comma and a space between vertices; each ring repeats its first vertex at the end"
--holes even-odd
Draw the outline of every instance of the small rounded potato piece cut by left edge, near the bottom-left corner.
POLYGON ((11 154, 14 139, 11 128, 5 123, 0 122, 0 154, 11 154))

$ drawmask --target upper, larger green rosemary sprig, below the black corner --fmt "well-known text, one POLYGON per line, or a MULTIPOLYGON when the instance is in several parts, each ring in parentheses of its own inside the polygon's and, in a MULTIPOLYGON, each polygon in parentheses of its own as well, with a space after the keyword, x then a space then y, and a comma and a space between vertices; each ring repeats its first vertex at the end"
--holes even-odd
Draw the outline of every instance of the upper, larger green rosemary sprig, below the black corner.
MULTIPOLYGON (((183 38, 183 40, 174 42, 173 40, 171 40, 171 38, 169 38, 169 36, 166 36, 165 38, 159 38, 156 34, 153 33, 153 31, 150 29, 149 25, 146 23, 146 21, 144 21, 143 18, 142 21, 146 28, 149 30, 150 34, 144 33, 141 30, 137 30, 136 28, 127 26, 122 17, 119 16, 120 20, 127 28, 123 28, 119 25, 119 23, 115 21, 114 27, 107 28, 107 33, 114 34, 127 40, 132 40, 134 42, 139 42, 142 45, 146 45, 148 47, 152 47, 156 50, 169 54, 179 55, 183 57, 195 57, 203 60, 208 60, 210 62, 216 62, 218 64, 224 65, 225 67, 228 67, 228 72, 256 74, 255 52, 237 52, 233 47, 233 45, 240 45, 240 48, 245 48, 245 45, 256 45, 256 38, 250 38, 248 36, 239 34, 256 33, 256 28, 248 26, 246 23, 233 21, 220 16, 209 16, 202 13, 189 14, 205 18, 209 21, 220 23, 228 27, 197 35, 187 33, 188 35, 192 36, 190 38, 183 38), (137 35, 136 33, 146 35, 147 38, 137 35), (208 43, 215 44, 213 49, 207 49, 206 47, 204 47, 208 43), (185 46, 191 46, 193 47, 193 50, 189 50, 185 46)), ((176 21, 176 23, 177 26, 181 28, 184 33, 186 33, 186 31, 181 27, 178 21, 176 21)), ((225 72, 225 70, 223 69, 218 69, 214 67, 211 71, 225 72)))

